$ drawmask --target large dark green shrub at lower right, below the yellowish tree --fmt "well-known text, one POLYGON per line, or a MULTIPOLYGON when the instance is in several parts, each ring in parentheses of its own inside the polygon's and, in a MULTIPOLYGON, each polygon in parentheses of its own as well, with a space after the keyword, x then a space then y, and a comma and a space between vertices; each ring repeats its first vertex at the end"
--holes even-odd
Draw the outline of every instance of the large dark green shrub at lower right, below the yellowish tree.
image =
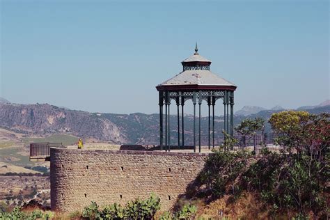
POLYGON ((326 210, 327 164, 308 155, 267 155, 242 176, 244 187, 256 191, 265 203, 315 217, 326 210))

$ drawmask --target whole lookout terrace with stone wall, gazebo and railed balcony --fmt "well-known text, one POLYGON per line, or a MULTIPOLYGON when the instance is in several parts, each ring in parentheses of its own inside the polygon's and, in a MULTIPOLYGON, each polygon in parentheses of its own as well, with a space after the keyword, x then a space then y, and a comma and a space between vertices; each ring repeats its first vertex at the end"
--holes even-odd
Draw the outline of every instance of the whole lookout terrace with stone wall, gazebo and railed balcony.
POLYGON ((161 198, 162 210, 170 209, 194 182, 211 146, 214 148, 214 130, 220 130, 214 126, 214 106, 219 100, 223 104, 224 130, 233 135, 236 86, 210 72, 210 65, 210 60, 198 54, 196 44, 195 53, 182 61, 182 72, 156 87, 159 92, 159 146, 95 144, 77 149, 77 146, 56 143, 31 144, 31 159, 50 160, 52 210, 82 210, 91 201, 99 205, 125 204, 138 197, 146 198, 151 192, 161 198), (171 143, 169 129, 173 100, 178 107, 178 145, 171 143), (184 144, 183 116, 187 100, 194 105, 193 146, 184 144), (203 100, 208 106, 208 146, 201 146, 203 100))

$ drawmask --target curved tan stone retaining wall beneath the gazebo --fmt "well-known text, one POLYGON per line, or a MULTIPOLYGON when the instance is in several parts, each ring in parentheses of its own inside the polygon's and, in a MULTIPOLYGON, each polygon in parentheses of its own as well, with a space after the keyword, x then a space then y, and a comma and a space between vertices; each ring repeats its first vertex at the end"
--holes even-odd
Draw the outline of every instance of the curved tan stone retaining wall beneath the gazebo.
POLYGON ((51 148, 52 210, 125 204, 155 192, 168 210, 204 166, 207 154, 51 148))

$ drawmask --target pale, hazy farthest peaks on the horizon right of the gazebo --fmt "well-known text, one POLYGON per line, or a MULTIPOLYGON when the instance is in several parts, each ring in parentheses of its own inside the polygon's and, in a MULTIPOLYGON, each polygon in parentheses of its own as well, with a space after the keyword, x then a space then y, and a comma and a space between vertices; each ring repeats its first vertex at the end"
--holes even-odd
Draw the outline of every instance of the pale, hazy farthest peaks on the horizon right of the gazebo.
MULTIPOLYGON (((318 105, 315 105, 315 106, 299 107, 296 110, 315 109, 317 107, 325 107, 325 106, 330 106, 330 100, 326 100, 326 101, 322 102, 321 104, 318 104, 318 105)), ((236 111, 235 115, 237 115, 237 116, 251 116, 255 113, 258 113, 260 111, 266 111, 266 110, 283 111, 285 109, 283 107, 279 106, 279 105, 276 105, 272 109, 265 109, 265 108, 256 107, 256 106, 244 106, 242 109, 236 111)))

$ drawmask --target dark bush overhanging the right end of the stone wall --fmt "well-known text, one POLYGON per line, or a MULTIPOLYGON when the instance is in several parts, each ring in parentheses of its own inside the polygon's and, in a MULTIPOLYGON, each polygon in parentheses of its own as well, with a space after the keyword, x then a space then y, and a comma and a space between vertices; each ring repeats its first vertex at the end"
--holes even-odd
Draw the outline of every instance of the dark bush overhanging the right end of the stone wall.
POLYGON ((187 185, 186 192, 178 196, 173 212, 178 212, 189 201, 201 200, 208 205, 225 195, 230 197, 227 205, 233 203, 242 193, 242 174, 257 160, 258 157, 244 153, 210 154, 201 172, 187 185))

